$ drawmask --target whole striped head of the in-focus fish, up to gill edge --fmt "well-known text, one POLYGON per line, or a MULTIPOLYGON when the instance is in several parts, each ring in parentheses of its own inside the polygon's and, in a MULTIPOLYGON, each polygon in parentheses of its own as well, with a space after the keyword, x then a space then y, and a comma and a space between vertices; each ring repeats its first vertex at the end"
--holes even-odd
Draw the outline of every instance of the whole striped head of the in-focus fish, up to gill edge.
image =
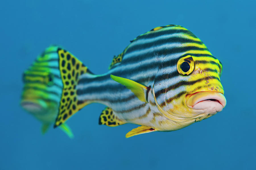
POLYGON ((158 110, 174 122, 198 122, 226 106, 220 82, 222 64, 190 31, 182 36, 176 37, 176 48, 165 49, 172 54, 162 54, 154 98, 158 110))

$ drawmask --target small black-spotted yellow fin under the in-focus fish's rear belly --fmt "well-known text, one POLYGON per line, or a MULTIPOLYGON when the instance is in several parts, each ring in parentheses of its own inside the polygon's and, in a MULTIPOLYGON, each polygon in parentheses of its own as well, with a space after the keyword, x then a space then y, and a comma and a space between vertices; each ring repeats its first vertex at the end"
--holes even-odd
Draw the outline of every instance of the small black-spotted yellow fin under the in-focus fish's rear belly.
POLYGON ((107 125, 107 126, 119 126, 123 125, 125 122, 120 120, 114 113, 110 107, 106 107, 102 113, 100 114, 99 118, 99 125, 107 125))

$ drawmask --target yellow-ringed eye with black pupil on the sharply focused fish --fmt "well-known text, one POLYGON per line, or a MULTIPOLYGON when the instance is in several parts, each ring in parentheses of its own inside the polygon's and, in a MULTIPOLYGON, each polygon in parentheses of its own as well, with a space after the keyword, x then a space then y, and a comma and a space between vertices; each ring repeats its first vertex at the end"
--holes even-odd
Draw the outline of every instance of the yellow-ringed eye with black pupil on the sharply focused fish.
POLYGON ((195 62, 192 56, 188 55, 182 57, 177 62, 177 71, 180 75, 187 76, 195 69, 195 62))

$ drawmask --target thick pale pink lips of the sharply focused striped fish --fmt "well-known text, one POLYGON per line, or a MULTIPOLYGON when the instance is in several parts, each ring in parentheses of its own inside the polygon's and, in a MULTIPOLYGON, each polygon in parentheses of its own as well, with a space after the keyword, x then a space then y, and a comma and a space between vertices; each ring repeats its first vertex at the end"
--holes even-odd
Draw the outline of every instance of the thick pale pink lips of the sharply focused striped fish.
POLYGON ((220 112, 226 106, 226 98, 220 92, 196 92, 186 95, 187 107, 208 112, 220 112))

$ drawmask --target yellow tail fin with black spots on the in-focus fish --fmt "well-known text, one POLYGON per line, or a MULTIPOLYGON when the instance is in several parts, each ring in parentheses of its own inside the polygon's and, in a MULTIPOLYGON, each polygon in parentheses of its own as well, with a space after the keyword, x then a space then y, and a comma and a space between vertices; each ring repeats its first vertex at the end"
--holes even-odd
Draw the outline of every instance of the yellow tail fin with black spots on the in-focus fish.
POLYGON ((55 120, 54 128, 63 124, 77 111, 82 109, 87 103, 79 103, 77 99, 76 86, 79 76, 82 74, 92 74, 87 67, 70 52, 58 48, 59 70, 63 82, 63 90, 59 105, 58 116, 55 120))

